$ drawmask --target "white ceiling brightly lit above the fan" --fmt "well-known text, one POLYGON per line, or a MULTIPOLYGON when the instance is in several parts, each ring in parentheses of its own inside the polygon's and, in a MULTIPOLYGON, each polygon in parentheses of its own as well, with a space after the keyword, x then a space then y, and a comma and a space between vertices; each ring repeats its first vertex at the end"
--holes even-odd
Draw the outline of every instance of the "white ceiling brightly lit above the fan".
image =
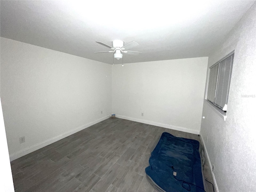
MULTIPOLYGON (((208 56, 255 1, 2 1, 1 36, 112 64, 112 46, 139 43, 124 63, 208 56)), ((122 61, 115 60, 115 64, 122 61)))

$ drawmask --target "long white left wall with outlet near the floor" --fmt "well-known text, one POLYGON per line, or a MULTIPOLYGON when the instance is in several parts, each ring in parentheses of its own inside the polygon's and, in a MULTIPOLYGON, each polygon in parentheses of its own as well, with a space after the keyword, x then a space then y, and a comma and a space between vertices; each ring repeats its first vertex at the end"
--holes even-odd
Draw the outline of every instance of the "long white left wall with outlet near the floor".
POLYGON ((108 118, 111 73, 109 64, 1 38, 1 100, 10 159, 108 118), (26 142, 20 144, 22 136, 26 142))

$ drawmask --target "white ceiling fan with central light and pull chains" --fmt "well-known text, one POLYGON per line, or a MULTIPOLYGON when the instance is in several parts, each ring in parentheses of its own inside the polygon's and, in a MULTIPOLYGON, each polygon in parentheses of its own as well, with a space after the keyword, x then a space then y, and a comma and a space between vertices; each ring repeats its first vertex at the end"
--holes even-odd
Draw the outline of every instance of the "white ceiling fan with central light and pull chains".
POLYGON ((138 43, 135 42, 135 41, 132 41, 132 42, 127 43, 127 44, 124 45, 123 41, 114 40, 114 41, 112 41, 112 46, 107 45, 107 44, 105 44, 103 42, 100 42, 100 41, 96 41, 96 43, 101 44, 105 47, 108 47, 108 48, 112 49, 112 51, 100 51, 100 52, 94 52, 94 53, 114 52, 114 58, 117 59, 117 60, 123 58, 122 53, 131 54, 131 55, 137 55, 137 54, 141 53, 139 51, 130 51, 130 50, 128 50, 128 49, 133 48, 133 47, 138 45, 138 43))

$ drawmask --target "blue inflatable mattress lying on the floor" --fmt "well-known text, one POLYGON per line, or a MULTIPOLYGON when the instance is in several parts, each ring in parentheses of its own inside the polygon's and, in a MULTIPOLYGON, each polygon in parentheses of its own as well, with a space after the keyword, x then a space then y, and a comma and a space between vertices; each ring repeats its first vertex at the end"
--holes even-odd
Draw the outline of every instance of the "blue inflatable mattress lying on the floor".
POLYGON ((199 142, 164 132, 149 158, 146 177, 159 192, 204 192, 199 142))

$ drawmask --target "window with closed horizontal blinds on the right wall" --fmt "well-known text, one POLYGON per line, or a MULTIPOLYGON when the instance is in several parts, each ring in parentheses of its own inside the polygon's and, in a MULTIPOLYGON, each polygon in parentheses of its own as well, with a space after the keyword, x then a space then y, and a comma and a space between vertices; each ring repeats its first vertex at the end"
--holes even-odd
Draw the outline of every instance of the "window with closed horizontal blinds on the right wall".
POLYGON ((228 92, 234 61, 234 52, 210 67, 210 78, 208 82, 207 100, 221 108, 227 110, 228 92))

